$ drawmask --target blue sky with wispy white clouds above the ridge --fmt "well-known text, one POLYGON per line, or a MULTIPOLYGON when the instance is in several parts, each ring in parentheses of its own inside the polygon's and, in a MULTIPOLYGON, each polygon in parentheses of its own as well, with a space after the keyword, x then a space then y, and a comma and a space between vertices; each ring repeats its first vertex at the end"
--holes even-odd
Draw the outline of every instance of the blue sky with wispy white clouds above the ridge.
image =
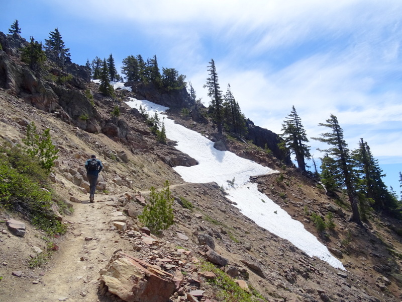
MULTIPOLYGON (((402 2, 399 0, 0 0, 0 31, 14 20, 43 41, 59 29, 71 59, 156 54, 208 104, 214 58, 246 117, 280 133, 292 105, 309 137, 338 117, 349 147, 362 137, 399 194, 402 171, 402 2)), ((311 140, 315 149, 319 143, 311 140)))

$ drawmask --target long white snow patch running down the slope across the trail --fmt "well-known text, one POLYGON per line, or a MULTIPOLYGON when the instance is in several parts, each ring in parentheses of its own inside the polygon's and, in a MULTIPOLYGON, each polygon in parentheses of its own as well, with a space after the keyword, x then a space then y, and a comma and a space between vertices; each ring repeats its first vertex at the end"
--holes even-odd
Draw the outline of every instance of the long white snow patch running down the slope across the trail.
POLYGON ((245 216, 262 228, 290 241, 309 256, 316 256, 335 268, 345 270, 342 262, 332 256, 327 247, 320 243, 314 235, 306 231, 302 223, 292 219, 285 210, 260 193, 256 184, 249 182, 250 176, 276 173, 277 171, 240 158, 231 152, 215 149, 214 143, 208 138, 165 118, 162 113, 168 109, 167 107, 133 98, 127 104, 137 109, 141 106, 151 116, 156 112, 160 120, 164 121, 166 136, 177 141, 175 147, 198 161, 199 164, 196 166, 173 168, 184 181, 216 182, 218 185, 226 187, 227 197, 237 203, 236 207, 245 216), (233 179, 235 182, 231 187, 227 181, 233 179))

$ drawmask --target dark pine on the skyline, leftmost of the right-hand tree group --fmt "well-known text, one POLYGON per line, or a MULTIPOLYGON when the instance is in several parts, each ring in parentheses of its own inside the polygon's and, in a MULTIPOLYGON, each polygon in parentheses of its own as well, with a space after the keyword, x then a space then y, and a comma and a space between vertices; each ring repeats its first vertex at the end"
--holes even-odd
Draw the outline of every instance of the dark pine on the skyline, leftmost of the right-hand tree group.
POLYGON ((306 171, 305 159, 310 159, 311 155, 310 147, 305 142, 309 142, 309 139, 302 125, 302 119, 297 115, 294 106, 292 106, 292 111, 286 120, 283 121, 281 131, 283 143, 296 156, 298 168, 306 171))

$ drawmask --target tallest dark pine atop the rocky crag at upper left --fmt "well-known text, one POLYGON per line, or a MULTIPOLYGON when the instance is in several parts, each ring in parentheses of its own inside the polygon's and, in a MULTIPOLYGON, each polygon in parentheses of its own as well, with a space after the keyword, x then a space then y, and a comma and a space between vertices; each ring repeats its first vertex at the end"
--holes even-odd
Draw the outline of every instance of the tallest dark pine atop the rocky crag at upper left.
POLYGON ((45 45, 46 54, 57 64, 60 80, 60 68, 64 67, 66 62, 70 61, 70 49, 65 48, 63 39, 58 28, 56 28, 54 32, 49 33, 49 40, 45 39, 45 45))

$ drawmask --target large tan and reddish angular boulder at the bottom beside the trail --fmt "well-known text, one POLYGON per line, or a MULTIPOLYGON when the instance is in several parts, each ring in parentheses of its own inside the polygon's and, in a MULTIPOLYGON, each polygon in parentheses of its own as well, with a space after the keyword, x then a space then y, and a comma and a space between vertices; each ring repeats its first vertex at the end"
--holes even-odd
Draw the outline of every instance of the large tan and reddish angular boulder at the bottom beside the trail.
POLYGON ((122 252, 100 274, 109 291, 128 302, 167 302, 176 289, 172 275, 122 252))

